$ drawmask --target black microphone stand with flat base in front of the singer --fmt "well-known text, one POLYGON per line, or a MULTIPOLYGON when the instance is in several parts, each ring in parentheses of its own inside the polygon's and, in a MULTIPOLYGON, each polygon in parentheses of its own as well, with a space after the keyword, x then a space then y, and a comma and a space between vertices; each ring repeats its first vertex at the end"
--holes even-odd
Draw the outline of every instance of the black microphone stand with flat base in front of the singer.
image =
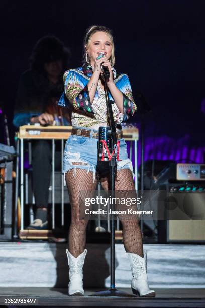
MULTIPOLYGON (((109 89, 106 82, 105 74, 102 75, 102 79, 104 80, 105 85, 105 97, 106 97, 106 105, 109 114, 110 120, 110 128, 111 128, 111 149, 112 152, 114 150, 114 146, 117 144, 117 134, 116 134, 116 126, 113 117, 113 110, 112 110, 112 101, 109 100, 109 89)), ((112 156, 111 160, 108 162, 109 164, 109 189, 111 190, 111 197, 115 197, 115 178, 116 178, 116 153, 112 156)), ((99 175, 100 176, 100 175, 99 175)), ((113 199, 112 199, 113 200, 113 199)), ((115 204, 112 202, 112 211, 115 210, 115 204)), ((121 297, 135 297, 135 295, 128 294, 126 292, 122 292, 116 289, 115 285, 115 220, 114 214, 111 215, 111 234, 110 234, 110 248, 111 248, 111 282, 110 288, 105 291, 96 292, 90 296, 121 296, 121 297)))

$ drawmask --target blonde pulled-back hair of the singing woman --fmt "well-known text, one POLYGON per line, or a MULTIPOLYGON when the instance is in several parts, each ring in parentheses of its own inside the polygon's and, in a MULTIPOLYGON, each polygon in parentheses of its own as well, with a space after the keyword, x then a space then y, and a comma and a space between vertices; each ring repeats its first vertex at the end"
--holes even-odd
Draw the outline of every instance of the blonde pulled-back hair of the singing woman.
POLYGON ((83 40, 83 44, 84 44, 84 56, 83 56, 83 62, 84 64, 86 64, 87 62, 87 47, 89 46, 90 44, 90 41, 91 41, 91 37, 94 33, 96 32, 99 32, 99 31, 102 31, 102 32, 105 32, 110 40, 111 40, 111 44, 112 44, 112 51, 111 51, 111 58, 110 58, 110 61, 111 61, 111 66, 113 67, 114 64, 115 64, 115 46, 114 46, 114 38, 113 38, 113 34, 112 34, 112 31, 104 26, 97 26, 97 25, 93 25, 91 27, 89 27, 87 30, 86 30, 86 33, 85 33, 85 36, 84 36, 84 40, 83 40))

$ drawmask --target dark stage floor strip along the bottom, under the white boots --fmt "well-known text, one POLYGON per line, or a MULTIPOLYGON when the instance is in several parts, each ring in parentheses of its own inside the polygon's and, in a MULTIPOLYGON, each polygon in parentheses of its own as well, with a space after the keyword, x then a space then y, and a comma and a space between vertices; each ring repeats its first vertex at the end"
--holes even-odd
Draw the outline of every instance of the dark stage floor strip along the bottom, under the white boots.
MULTIPOLYGON (((132 294, 131 289, 128 288, 119 288, 119 290, 132 294)), ((89 296, 96 291, 98 291, 98 289, 86 289, 85 296, 74 297, 67 295, 67 288, 0 287, 0 306, 15 307, 15 302, 12 302, 11 299, 36 298, 35 304, 30 304, 30 306, 205 307, 205 289, 155 289, 155 298, 89 296)))

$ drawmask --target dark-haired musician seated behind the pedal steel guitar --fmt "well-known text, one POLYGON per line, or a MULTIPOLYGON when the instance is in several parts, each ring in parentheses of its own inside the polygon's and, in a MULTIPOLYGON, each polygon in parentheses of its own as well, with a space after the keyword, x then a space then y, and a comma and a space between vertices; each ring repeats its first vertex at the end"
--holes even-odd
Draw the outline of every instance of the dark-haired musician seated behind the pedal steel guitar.
MULTIPOLYGON (((37 42, 30 58, 30 69, 22 74, 19 82, 13 120, 16 127, 35 123, 69 125, 70 112, 57 106, 68 58, 69 51, 58 38, 47 36, 37 42)), ((60 152, 55 153, 55 159, 55 165, 60 166, 60 152)), ((28 229, 48 229, 48 189, 52 170, 49 140, 32 141, 32 169, 36 213, 28 229)))

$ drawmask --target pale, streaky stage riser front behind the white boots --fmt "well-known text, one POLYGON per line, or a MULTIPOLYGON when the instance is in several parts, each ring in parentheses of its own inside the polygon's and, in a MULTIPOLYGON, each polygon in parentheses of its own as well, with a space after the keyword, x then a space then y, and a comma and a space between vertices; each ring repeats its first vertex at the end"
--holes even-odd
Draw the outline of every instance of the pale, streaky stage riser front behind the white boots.
MULTIPOLYGON (((0 243, 0 286, 66 287, 66 244, 0 243)), ((148 279, 154 288, 205 288, 204 245, 146 244, 148 279)), ((84 287, 109 287, 110 248, 88 244, 84 287)), ((131 270, 122 244, 116 245, 116 286, 130 287, 131 270)))

